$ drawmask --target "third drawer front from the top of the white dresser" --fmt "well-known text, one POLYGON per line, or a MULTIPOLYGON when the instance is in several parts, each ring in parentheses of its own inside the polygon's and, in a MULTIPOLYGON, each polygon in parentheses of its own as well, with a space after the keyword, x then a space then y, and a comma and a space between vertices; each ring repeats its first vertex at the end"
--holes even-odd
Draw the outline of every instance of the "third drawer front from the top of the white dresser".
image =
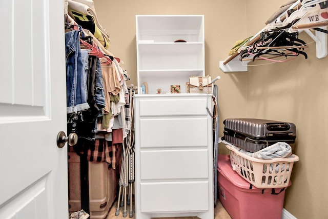
POLYGON ((141 151, 141 180, 208 178, 208 150, 141 151))

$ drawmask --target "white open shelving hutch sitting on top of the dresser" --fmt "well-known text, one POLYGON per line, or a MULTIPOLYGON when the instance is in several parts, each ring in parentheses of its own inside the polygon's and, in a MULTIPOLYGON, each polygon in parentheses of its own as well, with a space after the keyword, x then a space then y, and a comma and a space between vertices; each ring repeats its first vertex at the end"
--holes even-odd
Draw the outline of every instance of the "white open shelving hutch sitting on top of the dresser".
POLYGON ((171 85, 186 93, 189 76, 205 74, 203 15, 136 15, 136 42, 138 87, 150 94, 171 85))

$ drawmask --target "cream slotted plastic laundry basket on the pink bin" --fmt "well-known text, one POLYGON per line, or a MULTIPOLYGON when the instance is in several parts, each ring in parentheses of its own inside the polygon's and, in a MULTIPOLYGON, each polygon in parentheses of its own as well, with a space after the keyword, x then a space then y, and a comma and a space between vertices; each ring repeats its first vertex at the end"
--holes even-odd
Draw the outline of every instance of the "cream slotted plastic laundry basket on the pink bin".
POLYGON ((294 162, 299 157, 273 158, 262 160, 245 155, 230 145, 231 166, 242 177, 256 188, 283 188, 289 185, 294 162))

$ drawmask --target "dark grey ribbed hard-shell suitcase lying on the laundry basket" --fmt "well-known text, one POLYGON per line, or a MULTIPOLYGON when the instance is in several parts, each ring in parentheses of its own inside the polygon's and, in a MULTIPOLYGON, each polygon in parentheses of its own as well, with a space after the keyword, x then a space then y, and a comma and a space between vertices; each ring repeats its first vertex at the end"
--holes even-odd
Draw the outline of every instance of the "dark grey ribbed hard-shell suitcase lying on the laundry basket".
POLYGON ((224 124, 224 140, 250 152, 259 151, 277 142, 293 145, 296 126, 293 123, 257 118, 227 118, 224 124))

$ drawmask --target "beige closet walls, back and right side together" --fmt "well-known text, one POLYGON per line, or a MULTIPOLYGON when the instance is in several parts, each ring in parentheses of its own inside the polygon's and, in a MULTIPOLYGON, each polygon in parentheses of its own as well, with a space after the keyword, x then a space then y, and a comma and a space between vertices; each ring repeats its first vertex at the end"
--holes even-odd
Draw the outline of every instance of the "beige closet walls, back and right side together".
MULTIPOLYGON (((105 1, 94 0, 100 24, 110 33, 110 51, 124 61, 122 67, 136 85, 136 14, 203 14, 205 21, 206 73, 221 79, 219 88, 220 136, 222 121, 229 117, 256 117, 296 124, 292 186, 286 190, 284 208, 299 219, 328 218, 328 65, 315 56, 310 44, 294 61, 249 66, 248 72, 223 73, 219 61, 228 56, 235 41, 256 34, 286 1, 105 1)), ((312 42, 305 33, 305 42, 312 42)), ((250 63, 258 65, 260 62, 250 63)), ((220 145, 220 153, 227 153, 220 145)))

